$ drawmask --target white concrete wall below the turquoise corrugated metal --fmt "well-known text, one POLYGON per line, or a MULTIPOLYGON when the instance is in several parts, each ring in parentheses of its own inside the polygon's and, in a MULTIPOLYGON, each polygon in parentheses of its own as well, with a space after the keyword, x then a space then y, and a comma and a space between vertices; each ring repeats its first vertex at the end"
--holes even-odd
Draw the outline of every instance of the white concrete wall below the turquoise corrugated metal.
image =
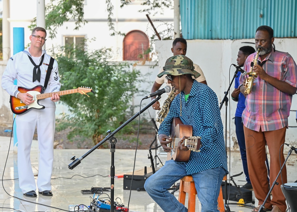
MULTIPOLYGON (((237 53, 241 46, 254 44, 247 44, 242 42, 254 42, 255 39, 241 39, 241 40, 187 40, 187 54, 186 56, 200 66, 202 69, 207 84, 218 96, 219 105, 224 97, 224 92, 227 91, 229 84, 233 78, 235 67, 229 68, 231 64, 236 64, 237 53)), ((163 40, 156 42, 156 50, 159 56, 159 67, 163 67, 167 58, 172 56, 172 40, 163 40)), ((288 52, 297 61, 297 38, 276 38, 274 41, 275 48, 280 51, 288 52)), ((234 82, 231 86, 229 94, 234 90, 234 82)), ((228 96, 229 98, 229 96, 228 96)), ((236 139, 234 117, 237 102, 234 102, 231 97, 228 102, 227 114, 225 112, 225 104, 221 109, 221 117, 223 125, 225 126, 225 117, 227 116, 227 142, 231 149, 234 146, 236 139), (230 122, 230 128, 229 128, 230 122), (229 136, 230 133, 230 136, 229 136), (231 139, 230 139, 231 138, 231 139), (229 144, 230 141, 230 144, 229 144)), ((293 95, 291 110, 297 109, 297 95, 293 95)), ((289 126, 297 126, 296 112, 290 112, 289 126)), ((224 127, 224 130, 225 127, 224 127)), ((297 145, 297 128, 290 127, 286 133, 286 143, 297 145)), ((285 151, 286 150, 285 148, 285 151)))

